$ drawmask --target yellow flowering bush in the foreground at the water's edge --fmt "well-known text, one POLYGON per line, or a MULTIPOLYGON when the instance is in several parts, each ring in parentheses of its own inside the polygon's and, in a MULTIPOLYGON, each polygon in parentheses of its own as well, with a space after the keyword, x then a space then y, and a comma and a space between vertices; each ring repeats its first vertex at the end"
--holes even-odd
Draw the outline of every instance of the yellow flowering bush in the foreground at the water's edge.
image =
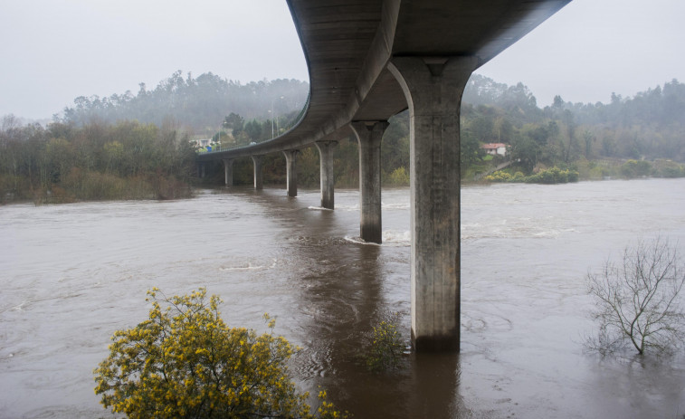
MULTIPOLYGON (((94 371, 106 408, 129 418, 315 417, 286 365, 296 348, 273 336, 268 315, 271 332, 257 335, 227 327, 221 300, 214 295, 207 303, 205 289, 172 298, 157 289, 147 294, 148 319, 115 332, 109 357, 94 371)), ((325 396, 319 394, 321 412, 345 417, 325 396)))

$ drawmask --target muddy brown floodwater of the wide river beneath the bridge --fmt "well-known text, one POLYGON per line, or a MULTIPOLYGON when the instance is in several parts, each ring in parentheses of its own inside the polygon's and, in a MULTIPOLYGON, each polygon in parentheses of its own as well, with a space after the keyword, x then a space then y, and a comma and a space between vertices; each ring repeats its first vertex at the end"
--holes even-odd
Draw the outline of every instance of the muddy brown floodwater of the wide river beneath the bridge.
POLYGON ((302 348, 302 390, 357 418, 682 418, 685 357, 585 353, 585 273, 635 237, 680 240, 685 179, 461 190, 461 354, 357 361, 387 311, 409 337, 409 191, 383 191, 384 244, 359 243, 358 192, 199 191, 194 199, 0 207, 0 417, 111 417, 92 370, 147 318, 146 290, 206 287, 229 325, 302 348))

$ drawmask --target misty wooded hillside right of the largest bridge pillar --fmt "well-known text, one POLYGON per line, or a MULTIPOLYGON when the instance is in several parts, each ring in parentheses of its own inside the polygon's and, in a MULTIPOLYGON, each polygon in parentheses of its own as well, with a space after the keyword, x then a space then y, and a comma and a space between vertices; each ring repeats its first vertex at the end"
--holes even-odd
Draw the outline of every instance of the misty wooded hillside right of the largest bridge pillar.
POLYGON ((539 108, 519 83, 507 86, 475 75, 464 93, 462 150, 466 170, 479 167, 477 143, 505 142, 509 168, 524 175, 547 167, 575 169, 582 178, 602 176, 685 176, 685 84, 672 80, 609 104, 566 102, 555 97, 539 108), (642 172, 635 172, 635 164, 642 172), (626 167, 626 163, 629 163, 626 167), (646 169, 650 166, 649 169, 646 169))

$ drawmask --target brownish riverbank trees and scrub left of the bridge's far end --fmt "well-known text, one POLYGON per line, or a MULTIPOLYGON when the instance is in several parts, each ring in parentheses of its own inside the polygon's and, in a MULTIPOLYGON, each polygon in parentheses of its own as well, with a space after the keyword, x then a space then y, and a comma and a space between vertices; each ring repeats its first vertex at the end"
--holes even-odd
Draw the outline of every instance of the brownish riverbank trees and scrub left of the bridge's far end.
POLYGON ((191 195, 195 149, 173 126, 55 122, 0 130, 0 202, 172 199, 191 195))

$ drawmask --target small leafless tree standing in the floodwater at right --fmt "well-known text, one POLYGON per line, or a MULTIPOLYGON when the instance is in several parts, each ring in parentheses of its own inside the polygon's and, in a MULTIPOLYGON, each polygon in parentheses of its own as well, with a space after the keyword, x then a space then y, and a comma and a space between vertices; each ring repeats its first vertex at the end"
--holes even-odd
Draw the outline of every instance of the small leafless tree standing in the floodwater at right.
POLYGON ((599 322, 596 337, 586 341, 588 348, 605 354, 632 345, 641 355, 679 348, 685 337, 679 300, 685 269, 676 245, 662 237, 640 240, 625 248, 622 263, 607 260, 602 271, 586 279, 599 322))

